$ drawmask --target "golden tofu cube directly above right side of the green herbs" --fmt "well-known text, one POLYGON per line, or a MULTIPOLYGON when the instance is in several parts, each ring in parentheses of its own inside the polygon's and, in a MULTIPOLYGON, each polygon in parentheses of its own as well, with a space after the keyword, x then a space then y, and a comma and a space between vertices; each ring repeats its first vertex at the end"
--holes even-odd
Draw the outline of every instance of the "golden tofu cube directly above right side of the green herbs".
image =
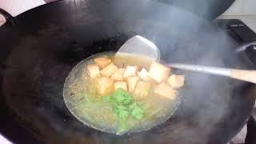
POLYGON ((150 83, 138 81, 134 90, 134 98, 137 100, 146 98, 149 95, 149 93, 150 93, 150 83))

